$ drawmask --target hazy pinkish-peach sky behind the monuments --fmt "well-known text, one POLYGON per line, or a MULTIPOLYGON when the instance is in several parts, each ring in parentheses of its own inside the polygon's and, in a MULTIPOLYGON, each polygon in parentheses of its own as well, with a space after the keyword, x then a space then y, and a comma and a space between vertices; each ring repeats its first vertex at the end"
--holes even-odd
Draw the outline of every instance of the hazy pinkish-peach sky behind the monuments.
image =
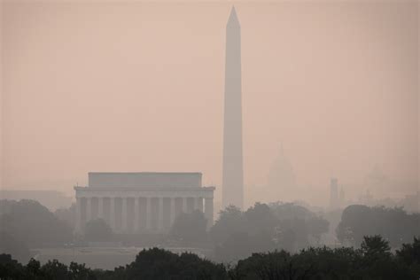
MULTIPOLYGON (((89 171, 199 171, 220 187, 232 3, 2 4, 4 188, 71 193, 89 171)), ((417 5, 235 3, 248 188, 282 143, 308 193, 375 165, 416 180, 417 5)))

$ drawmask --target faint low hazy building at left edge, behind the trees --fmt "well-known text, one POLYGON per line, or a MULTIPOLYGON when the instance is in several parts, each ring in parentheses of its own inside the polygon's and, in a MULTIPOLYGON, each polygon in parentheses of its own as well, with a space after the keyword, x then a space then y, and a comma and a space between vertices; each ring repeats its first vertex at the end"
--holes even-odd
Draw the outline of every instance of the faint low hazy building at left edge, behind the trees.
POLYGON ((48 190, 0 190, 1 199, 21 200, 31 199, 38 201, 50 211, 58 208, 68 208, 72 205, 72 198, 60 191, 48 190))

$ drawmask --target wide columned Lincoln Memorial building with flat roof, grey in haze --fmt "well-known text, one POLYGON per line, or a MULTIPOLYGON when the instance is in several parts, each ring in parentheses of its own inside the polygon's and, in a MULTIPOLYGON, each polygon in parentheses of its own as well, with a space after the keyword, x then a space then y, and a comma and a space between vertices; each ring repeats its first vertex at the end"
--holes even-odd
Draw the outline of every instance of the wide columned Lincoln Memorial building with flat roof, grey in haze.
POLYGON ((89 173, 88 186, 75 186, 76 232, 103 219, 117 233, 165 233, 181 213, 199 210, 213 224, 214 187, 201 173, 89 173))

